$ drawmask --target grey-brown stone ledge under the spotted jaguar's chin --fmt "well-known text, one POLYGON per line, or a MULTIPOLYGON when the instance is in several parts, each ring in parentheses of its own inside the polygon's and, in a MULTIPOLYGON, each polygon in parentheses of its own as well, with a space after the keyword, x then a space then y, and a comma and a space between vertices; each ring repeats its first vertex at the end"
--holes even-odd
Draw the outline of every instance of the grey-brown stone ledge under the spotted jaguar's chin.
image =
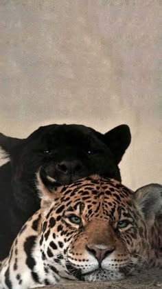
POLYGON ((140 275, 120 281, 81 282, 66 281, 54 286, 38 287, 37 289, 162 289, 162 270, 148 270, 140 275))

